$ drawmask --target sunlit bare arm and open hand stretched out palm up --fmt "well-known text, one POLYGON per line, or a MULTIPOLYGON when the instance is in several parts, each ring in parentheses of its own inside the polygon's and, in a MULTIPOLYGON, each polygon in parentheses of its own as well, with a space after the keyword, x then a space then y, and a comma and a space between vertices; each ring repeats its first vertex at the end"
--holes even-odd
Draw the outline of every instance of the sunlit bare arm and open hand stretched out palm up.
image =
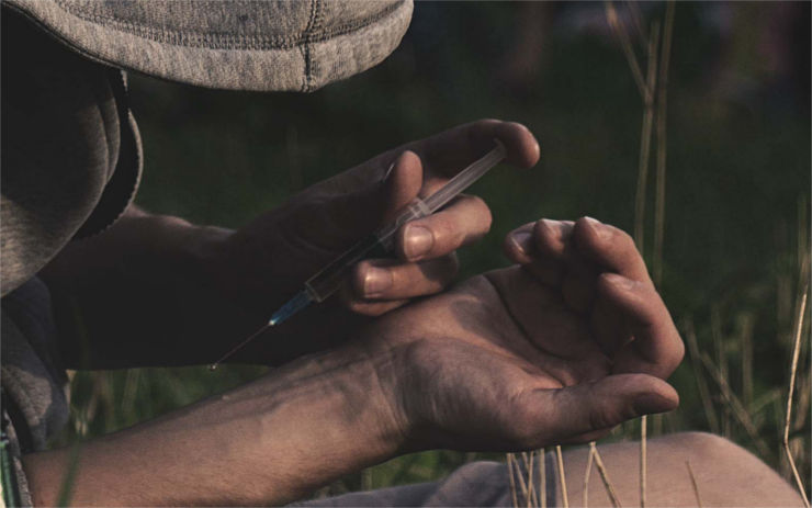
MULTIPOLYGON (((88 442, 74 503, 282 504, 406 452, 580 442, 675 408, 663 379, 683 345, 647 279, 632 276, 642 261, 628 236, 589 219, 551 235, 537 226, 508 236, 515 267, 387 313, 255 383, 88 442), (554 245, 562 257, 543 253, 554 245), (595 273, 575 282, 586 308, 564 291, 569 257, 595 273), (545 284, 534 271, 555 260, 561 283, 545 284), (619 332, 619 346, 594 331, 604 305, 632 334, 619 332)), ((54 503, 69 455, 24 458, 36 504, 54 503)))

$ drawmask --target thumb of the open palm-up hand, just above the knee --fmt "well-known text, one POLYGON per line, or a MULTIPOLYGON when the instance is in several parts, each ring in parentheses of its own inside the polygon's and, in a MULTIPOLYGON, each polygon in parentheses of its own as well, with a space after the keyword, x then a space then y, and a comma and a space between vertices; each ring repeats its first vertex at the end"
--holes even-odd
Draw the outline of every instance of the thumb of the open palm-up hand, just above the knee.
MULTIPOLYGON (((543 443, 611 429, 625 420, 676 409, 679 395, 665 381, 647 374, 618 374, 591 383, 544 390, 535 405, 545 421, 543 443)), ((538 425, 538 424, 537 424, 538 425)))

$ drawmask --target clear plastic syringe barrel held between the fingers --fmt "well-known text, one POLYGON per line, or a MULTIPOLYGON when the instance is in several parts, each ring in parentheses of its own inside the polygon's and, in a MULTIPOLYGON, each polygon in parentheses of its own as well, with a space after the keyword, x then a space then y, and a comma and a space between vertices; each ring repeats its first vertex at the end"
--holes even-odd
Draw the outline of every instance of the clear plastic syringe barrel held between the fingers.
POLYGON ((305 289, 316 302, 324 302, 338 291, 345 275, 359 261, 370 257, 386 257, 394 247, 395 233, 404 224, 431 214, 419 197, 408 204, 395 221, 352 246, 345 253, 305 282, 305 289))

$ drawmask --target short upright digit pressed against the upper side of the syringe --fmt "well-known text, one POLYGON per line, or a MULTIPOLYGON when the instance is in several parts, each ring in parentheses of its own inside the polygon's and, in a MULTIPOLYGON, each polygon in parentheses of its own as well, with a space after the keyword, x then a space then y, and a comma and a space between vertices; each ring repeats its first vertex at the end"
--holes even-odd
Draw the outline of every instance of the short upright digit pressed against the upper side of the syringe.
POLYGON ((343 233, 347 241, 354 241, 394 219, 421 187, 422 163, 417 154, 407 150, 392 162, 381 181, 347 182, 348 192, 326 203, 325 218, 336 234, 343 233))

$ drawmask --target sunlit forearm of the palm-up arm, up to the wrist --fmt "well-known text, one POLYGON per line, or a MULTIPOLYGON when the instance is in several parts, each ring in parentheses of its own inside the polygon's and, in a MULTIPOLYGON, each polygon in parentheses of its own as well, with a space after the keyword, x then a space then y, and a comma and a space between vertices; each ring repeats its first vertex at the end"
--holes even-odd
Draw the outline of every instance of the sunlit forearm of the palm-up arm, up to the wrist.
MULTIPOLYGON (((387 361, 379 359, 377 362, 387 361)), ((278 505, 395 454, 402 443, 376 369, 354 351, 271 375, 79 452, 74 505, 278 505), (382 402, 384 400, 384 402, 382 402)), ((70 450, 24 458, 37 505, 53 505, 70 450)))

